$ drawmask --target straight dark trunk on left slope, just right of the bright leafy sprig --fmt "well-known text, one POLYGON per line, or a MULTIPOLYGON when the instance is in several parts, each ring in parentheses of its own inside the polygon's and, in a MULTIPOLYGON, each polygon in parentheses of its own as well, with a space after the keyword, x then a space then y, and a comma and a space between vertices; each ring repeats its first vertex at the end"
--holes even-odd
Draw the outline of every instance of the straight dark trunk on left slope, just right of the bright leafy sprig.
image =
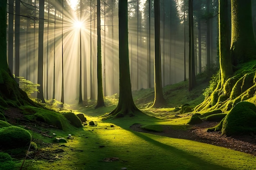
POLYGON ((45 14, 45 0, 39 0, 39 32, 38 32, 38 86, 37 98, 45 103, 43 93, 43 35, 44 35, 44 14, 45 14))

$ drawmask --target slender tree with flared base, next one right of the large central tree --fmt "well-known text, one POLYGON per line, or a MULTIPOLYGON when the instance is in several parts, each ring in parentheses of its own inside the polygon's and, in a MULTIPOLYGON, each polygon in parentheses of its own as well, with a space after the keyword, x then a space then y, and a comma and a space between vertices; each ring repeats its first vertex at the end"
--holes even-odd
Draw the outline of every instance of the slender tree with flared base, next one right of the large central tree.
POLYGON ((166 104, 163 91, 162 91, 159 0, 155 0, 154 9, 155 9, 155 99, 152 107, 158 108, 166 104))

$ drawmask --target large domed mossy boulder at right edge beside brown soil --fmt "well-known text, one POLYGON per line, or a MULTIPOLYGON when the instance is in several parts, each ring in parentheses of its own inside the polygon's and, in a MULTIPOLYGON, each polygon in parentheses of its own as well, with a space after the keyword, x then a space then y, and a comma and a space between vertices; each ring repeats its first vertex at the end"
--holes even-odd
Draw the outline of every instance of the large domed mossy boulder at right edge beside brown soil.
POLYGON ((229 111, 222 125, 222 134, 245 135, 256 132, 256 106, 250 102, 239 102, 229 111))

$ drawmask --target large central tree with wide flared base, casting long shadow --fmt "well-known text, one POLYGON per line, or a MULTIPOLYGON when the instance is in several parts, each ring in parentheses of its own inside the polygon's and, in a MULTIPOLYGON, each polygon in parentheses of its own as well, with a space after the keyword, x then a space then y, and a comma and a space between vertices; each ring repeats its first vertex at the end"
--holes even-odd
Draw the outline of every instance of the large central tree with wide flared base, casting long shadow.
POLYGON ((140 111, 132 99, 128 49, 128 2, 119 0, 119 102, 106 117, 124 117, 140 111))

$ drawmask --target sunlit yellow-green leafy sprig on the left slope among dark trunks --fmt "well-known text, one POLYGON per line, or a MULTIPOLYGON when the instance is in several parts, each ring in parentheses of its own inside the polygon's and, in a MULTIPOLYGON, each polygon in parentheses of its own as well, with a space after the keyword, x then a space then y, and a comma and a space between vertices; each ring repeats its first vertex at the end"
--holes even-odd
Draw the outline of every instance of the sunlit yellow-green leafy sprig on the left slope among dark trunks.
POLYGON ((39 92, 37 87, 39 87, 40 84, 32 83, 29 80, 25 79, 24 77, 15 77, 15 78, 20 79, 19 86, 23 91, 27 93, 28 96, 30 96, 34 92, 39 92))

